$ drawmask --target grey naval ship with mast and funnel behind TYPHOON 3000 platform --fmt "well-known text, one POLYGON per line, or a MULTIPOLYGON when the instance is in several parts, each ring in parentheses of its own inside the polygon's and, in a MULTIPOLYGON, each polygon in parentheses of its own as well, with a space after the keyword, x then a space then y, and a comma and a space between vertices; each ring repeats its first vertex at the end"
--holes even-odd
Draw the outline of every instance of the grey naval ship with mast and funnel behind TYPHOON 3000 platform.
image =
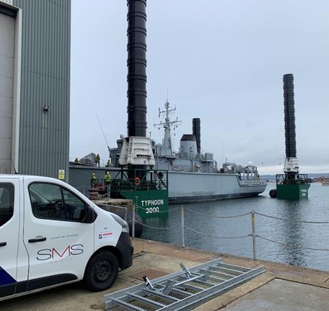
MULTIPOLYGON (((152 142, 157 171, 168 171, 169 203, 188 203, 254 197, 262 193, 267 184, 259 179, 257 166, 251 162, 247 166, 225 162, 219 168, 212 153, 202 153, 200 119, 193 119, 193 133, 184 134, 180 139, 178 152, 173 151, 172 129, 182 121, 170 116, 175 112, 169 101, 164 110, 159 108, 158 129, 164 129, 161 143, 152 142)), ((117 148, 110 149, 110 159, 114 166, 119 164, 122 138, 117 140, 117 148)))

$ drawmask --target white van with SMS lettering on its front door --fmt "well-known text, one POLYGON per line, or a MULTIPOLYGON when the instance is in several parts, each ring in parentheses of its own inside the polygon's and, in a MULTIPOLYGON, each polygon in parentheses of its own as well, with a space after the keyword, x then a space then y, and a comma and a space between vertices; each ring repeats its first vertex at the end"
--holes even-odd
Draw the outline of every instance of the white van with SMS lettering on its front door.
POLYGON ((0 301, 82 279, 109 288, 132 265, 128 230, 58 179, 0 175, 0 301))

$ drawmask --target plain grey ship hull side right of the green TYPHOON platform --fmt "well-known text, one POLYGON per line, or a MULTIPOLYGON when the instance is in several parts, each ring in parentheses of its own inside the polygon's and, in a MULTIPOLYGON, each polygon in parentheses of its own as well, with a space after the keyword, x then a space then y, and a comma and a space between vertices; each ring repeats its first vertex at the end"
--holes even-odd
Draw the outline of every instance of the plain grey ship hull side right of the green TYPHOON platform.
POLYGON ((169 203, 215 201, 256 197, 267 184, 259 180, 239 180, 236 174, 169 171, 169 203))

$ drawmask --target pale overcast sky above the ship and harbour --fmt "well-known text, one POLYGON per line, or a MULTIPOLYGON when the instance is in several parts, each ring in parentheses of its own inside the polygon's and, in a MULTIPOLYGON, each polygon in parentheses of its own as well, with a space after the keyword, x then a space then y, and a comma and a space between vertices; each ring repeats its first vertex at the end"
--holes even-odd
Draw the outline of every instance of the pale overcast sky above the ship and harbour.
MULTIPOLYGON (((125 0, 72 0, 70 157, 108 159, 127 134, 125 0), (102 134, 97 115, 103 127, 102 134)), ((329 171, 329 2, 147 0, 147 132, 175 105, 182 134, 201 119, 202 151, 282 173, 282 76, 295 77, 302 173, 329 171)))

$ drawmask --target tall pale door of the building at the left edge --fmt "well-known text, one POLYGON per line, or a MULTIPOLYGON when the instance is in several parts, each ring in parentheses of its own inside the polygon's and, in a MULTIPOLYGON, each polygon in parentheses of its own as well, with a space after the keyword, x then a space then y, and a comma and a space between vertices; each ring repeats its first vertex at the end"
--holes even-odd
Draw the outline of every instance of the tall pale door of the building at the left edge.
POLYGON ((15 18, 0 13, 0 173, 10 173, 15 18))

